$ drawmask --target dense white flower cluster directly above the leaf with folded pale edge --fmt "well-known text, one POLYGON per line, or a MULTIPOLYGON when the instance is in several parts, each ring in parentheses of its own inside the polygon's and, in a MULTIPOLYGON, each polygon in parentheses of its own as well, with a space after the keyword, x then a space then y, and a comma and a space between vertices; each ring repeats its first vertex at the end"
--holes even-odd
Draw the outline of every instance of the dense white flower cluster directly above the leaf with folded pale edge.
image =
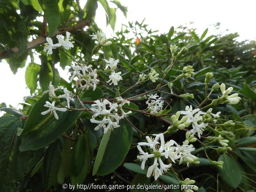
POLYGON ((117 97, 117 103, 104 99, 96 100, 94 101, 95 104, 92 104, 95 108, 90 108, 91 111, 95 112, 95 114, 92 116, 92 119, 90 121, 92 123, 97 123, 98 125, 94 128, 94 130, 98 130, 100 128, 104 129, 104 133, 107 133, 108 130, 113 131, 114 128, 120 127, 119 120, 123 119, 127 116, 127 114, 132 113, 132 111, 128 111, 125 113, 122 109, 122 106, 127 103, 130 104, 130 101, 125 100, 121 97, 117 97), (121 112, 120 115, 118 115, 118 111, 121 112), (96 120, 95 117, 101 118, 101 120, 96 120))

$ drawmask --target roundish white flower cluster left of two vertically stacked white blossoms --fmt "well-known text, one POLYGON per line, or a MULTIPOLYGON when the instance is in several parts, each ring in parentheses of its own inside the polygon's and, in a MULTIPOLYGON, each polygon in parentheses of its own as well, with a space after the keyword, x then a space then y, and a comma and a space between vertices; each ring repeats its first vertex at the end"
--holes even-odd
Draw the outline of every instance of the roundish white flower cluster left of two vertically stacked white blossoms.
POLYGON ((97 69, 92 69, 92 65, 83 65, 80 67, 79 65, 74 66, 75 70, 71 72, 73 75, 70 78, 70 82, 74 79, 75 76, 78 77, 76 80, 76 87, 80 89, 89 89, 93 87, 93 91, 96 89, 96 84, 100 82, 97 79, 97 69), (82 73, 80 73, 82 71, 82 73))

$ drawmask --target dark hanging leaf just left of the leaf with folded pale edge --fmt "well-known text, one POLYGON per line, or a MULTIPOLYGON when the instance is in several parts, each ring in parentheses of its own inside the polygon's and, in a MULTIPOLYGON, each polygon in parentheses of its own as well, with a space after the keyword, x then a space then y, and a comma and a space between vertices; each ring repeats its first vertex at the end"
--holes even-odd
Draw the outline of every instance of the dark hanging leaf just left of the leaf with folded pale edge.
POLYGON ((76 142, 70 161, 70 180, 73 185, 82 184, 88 172, 88 150, 84 135, 76 142))

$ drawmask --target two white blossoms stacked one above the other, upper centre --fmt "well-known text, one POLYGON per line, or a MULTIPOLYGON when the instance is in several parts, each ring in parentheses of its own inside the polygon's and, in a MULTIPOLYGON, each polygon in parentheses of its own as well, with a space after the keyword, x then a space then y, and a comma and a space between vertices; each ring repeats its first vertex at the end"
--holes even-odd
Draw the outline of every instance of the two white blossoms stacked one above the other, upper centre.
POLYGON ((114 70, 116 69, 117 63, 119 62, 119 60, 115 60, 113 58, 109 58, 109 60, 103 59, 107 64, 107 67, 110 67, 111 70, 111 74, 108 76, 109 80, 107 81, 107 83, 109 83, 111 81, 111 84, 117 85, 118 81, 122 80, 123 78, 120 76, 122 74, 122 72, 115 72, 114 70))

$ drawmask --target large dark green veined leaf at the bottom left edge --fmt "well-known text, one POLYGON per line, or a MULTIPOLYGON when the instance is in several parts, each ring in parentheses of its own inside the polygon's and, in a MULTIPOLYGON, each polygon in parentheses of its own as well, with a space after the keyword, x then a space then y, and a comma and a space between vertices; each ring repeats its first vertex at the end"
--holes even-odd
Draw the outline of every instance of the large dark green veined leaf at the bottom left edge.
POLYGON ((31 152, 20 152, 18 127, 22 122, 15 116, 0 117, 0 191, 14 191, 15 183, 24 179, 27 164, 33 156, 31 152))

